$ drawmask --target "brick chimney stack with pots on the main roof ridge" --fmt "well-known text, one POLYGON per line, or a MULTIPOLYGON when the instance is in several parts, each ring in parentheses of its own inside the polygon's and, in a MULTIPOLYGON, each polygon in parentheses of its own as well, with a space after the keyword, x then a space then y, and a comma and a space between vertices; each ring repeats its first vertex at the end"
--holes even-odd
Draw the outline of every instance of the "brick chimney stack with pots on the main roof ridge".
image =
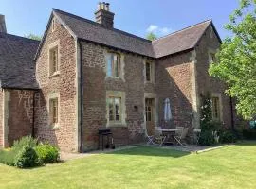
POLYGON ((100 2, 95 12, 96 22, 109 28, 114 27, 114 13, 110 12, 109 3, 100 2))

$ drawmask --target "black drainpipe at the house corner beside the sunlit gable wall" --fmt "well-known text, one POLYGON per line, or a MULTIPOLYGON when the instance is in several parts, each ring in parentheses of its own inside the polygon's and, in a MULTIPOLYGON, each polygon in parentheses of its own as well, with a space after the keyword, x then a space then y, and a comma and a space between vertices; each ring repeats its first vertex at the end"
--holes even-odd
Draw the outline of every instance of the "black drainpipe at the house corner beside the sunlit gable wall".
POLYGON ((80 62, 79 62, 79 66, 80 66, 80 152, 82 153, 82 149, 83 149, 83 75, 82 75, 82 43, 79 41, 78 39, 78 43, 79 43, 79 48, 80 48, 80 62))

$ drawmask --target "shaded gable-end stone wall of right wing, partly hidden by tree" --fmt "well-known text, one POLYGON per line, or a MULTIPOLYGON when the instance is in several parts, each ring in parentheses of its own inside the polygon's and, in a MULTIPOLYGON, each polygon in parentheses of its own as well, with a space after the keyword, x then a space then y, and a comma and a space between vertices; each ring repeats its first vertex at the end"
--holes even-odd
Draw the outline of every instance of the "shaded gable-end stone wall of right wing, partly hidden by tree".
MULTIPOLYGON (((212 29, 213 31, 213 29, 212 29)), ((222 114, 223 122, 227 127, 231 126, 231 110, 230 110, 230 98, 225 94, 226 86, 217 78, 209 76, 209 52, 216 52, 220 47, 220 42, 214 32, 210 33, 210 28, 203 35, 202 39, 196 47, 196 72, 197 72, 197 85, 198 94, 206 95, 221 94, 222 100, 222 114)))

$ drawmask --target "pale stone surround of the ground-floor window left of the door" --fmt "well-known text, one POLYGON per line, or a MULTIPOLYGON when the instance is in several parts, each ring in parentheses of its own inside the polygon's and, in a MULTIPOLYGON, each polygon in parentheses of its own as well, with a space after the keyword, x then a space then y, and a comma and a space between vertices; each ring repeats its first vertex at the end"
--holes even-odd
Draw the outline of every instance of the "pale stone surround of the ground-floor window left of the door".
POLYGON ((107 91, 106 92, 106 120, 107 127, 126 127, 126 106, 125 106, 125 93, 119 91, 107 91), (119 105, 119 121, 109 120, 109 99, 110 98, 120 98, 119 105))

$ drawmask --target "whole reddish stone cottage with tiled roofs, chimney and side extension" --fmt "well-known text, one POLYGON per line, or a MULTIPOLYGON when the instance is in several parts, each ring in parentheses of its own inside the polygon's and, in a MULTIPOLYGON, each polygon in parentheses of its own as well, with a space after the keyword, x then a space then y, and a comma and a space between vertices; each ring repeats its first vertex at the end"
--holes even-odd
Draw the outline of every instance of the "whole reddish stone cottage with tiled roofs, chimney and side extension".
POLYGON ((211 20, 153 42, 114 28, 109 4, 96 22, 53 9, 42 41, 6 33, 0 16, 0 146, 32 134, 64 151, 98 146, 98 130, 118 144, 143 140, 163 120, 199 128, 201 97, 212 118, 232 125, 225 85, 208 75, 221 39, 211 20))

